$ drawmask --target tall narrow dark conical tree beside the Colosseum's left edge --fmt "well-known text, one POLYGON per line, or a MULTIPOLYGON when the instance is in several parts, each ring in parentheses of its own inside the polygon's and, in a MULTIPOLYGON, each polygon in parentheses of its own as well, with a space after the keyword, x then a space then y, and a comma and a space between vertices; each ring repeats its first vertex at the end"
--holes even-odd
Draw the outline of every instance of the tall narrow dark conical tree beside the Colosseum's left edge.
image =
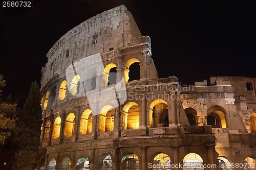
POLYGON ((13 169, 34 169, 40 144, 42 116, 40 92, 37 82, 31 84, 29 96, 19 115, 15 137, 18 151, 15 153, 13 169))

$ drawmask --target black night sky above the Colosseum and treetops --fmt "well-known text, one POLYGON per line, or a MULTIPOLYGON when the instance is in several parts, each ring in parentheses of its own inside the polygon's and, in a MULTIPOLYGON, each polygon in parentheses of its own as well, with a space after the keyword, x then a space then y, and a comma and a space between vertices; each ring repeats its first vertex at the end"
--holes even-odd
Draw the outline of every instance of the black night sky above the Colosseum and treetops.
POLYGON ((23 104, 31 82, 40 83, 46 54, 65 33, 119 5, 132 12, 152 40, 160 78, 182 84, 210 76, 256 78, 256 1, 37 0, 31 8, 0 8, 0 74, 5 95, 23 104))

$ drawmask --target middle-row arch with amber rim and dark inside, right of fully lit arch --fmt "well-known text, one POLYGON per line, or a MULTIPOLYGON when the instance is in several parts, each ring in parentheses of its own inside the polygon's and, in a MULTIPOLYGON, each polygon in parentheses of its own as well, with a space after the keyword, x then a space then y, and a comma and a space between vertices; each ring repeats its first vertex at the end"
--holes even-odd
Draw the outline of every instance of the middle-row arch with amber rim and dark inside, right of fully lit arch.
POLYGON ((169 127, 168 105, 162 99, 157 99, 150 104, 150 127, 169 127))

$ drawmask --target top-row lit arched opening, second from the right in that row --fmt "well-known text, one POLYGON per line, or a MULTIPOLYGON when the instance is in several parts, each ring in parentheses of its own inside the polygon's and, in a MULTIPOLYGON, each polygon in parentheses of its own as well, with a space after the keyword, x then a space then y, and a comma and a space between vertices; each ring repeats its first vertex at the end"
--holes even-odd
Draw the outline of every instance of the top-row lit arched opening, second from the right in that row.
POLYGON ((103 82, 104 82, 104 87, 116 84, 116 69, 117 66, 114 63, 108 64, 104 68, 103 72, 103 82))

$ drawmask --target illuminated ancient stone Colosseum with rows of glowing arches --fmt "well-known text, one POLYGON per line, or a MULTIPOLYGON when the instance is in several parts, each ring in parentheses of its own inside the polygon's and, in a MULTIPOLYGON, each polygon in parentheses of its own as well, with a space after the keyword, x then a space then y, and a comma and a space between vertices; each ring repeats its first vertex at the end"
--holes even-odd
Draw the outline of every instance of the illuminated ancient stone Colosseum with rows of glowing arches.
POLYGON ((37 169, 256 169, 256 78, 158 78, 125 6, 76 26, 47 58, 37 169))

